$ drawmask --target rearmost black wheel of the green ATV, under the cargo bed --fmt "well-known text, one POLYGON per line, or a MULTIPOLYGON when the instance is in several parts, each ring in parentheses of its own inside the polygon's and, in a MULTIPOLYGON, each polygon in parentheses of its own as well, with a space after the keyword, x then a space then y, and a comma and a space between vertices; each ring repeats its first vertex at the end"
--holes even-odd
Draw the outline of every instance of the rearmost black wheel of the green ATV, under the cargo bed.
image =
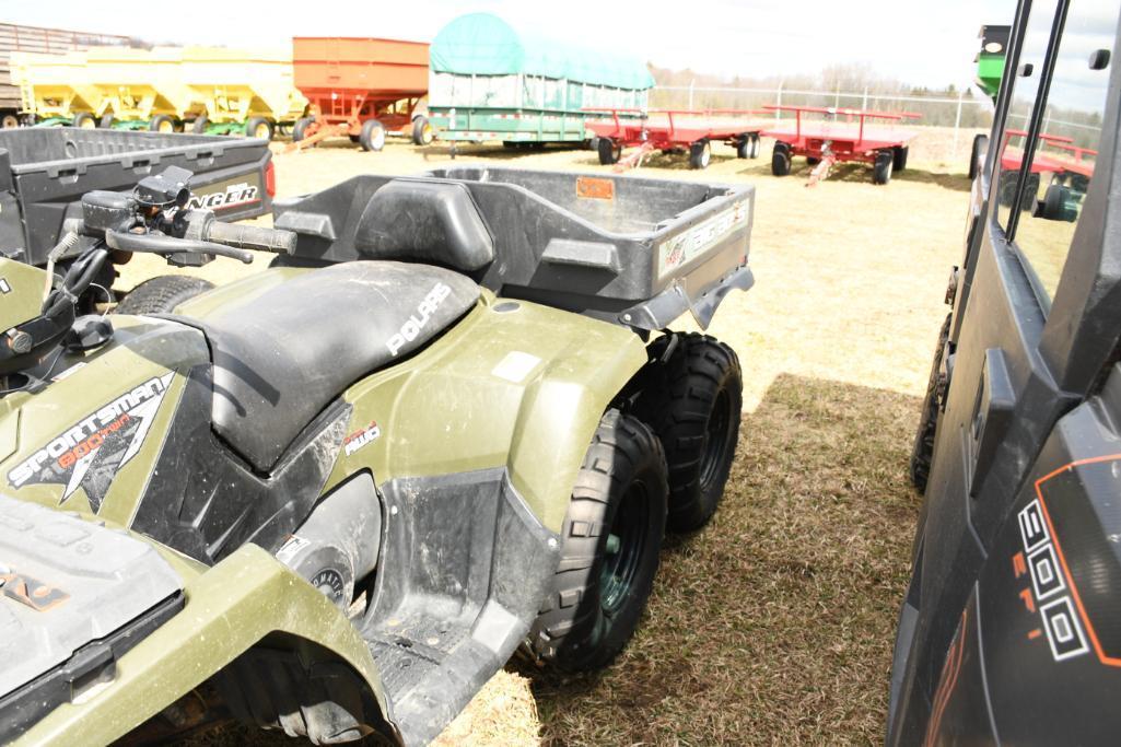
POLYGON ((660 361, 634 414, 661 441, 669 467, 671 532, 708 523, 735 458, 743 406, 743 376, 735 352, 704 334, 669 333, 649 347, 660 361))

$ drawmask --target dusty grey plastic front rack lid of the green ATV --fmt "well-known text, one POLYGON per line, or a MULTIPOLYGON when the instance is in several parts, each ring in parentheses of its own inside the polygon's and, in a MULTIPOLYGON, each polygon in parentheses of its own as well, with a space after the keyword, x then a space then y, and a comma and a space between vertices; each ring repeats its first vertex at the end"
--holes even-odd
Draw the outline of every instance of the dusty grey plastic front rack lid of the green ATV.
POLYGON ((151 545, 0 496, 0 743, 111 682, 182 588, 151 545))

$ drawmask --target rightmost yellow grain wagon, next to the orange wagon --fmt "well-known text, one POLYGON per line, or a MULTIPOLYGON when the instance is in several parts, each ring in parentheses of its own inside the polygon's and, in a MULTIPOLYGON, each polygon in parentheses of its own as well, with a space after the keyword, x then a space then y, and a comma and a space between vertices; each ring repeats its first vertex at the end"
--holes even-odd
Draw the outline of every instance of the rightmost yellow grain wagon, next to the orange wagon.
POLYGON ((191 96, 183 118, 195 132, 270 138, 307 109, 290 50, 186 47, 180 74, 191 96))

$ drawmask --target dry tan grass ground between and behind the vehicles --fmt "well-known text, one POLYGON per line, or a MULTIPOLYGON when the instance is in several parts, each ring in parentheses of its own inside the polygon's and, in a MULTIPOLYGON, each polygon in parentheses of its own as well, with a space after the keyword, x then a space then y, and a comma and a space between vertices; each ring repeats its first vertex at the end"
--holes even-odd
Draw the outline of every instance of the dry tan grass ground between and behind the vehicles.
MULTIPOLYGON (((744 407, 724 502, 694 536, 667 542, 649 614, 593 676, 500 672, 441 745, 843 745, 882 739, 896 614, 919 497, 907 458, 929 356, 958 260, 972 133, 923 130, 886 187, 843 166, 815 188, 806 167, 770 175, 720 146, 705 172, 658 157, 645 176, 756 185, 757 285, 710 332, 739 352, 744 407)), ((349 142, 276 156, 298 194, 362 172, 447 163, 442 147, 349 142)), ((586 150, 476 148, 460 162, 603 172, 586 150)), ((148 259, 148 258, 141 258, 148 259)), ((223 282, 257 271, 229 260, 223 282)), ((135 260, 120 285, 166 271, 135 260)), ((240 729, 204 737, 241 741, 240 729)), ((257 743, 261 737, 252 737, 257 743)), ((282 738, 280 738, 282 739, 282 738)), ((267 740, 271 744, 271 740, 267 740)))

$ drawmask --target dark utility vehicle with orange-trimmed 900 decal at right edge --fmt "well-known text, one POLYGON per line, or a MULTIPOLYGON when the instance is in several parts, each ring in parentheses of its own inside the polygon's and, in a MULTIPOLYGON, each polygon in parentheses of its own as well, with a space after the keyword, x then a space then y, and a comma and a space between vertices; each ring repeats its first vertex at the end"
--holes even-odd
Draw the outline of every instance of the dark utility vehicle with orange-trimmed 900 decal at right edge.
POLYGON ((915 443, 889 745, 1121 734, 1119 9, 1017 9, 915 443))

